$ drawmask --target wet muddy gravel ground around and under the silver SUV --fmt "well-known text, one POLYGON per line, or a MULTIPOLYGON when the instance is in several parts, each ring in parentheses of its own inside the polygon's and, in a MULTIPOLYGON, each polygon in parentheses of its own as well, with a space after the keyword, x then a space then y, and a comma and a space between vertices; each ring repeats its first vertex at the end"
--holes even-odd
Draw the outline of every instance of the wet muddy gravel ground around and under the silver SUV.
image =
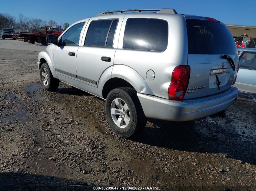
POLYGON ((148 119, 125 139, 103 100, 64 83, 45 91, 37 57, 0 49, 0 190, 256 189, 255 97, 241 94, 224 119, 148 119))

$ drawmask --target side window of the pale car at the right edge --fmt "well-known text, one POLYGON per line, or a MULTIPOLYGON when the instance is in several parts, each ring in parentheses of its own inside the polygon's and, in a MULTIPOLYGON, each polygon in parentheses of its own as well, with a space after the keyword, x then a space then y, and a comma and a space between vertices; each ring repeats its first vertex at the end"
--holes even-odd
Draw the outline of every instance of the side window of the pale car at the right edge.
POLYGON ((244 51, 239 58, 240 68, 256 70, 256 52, 244 51))

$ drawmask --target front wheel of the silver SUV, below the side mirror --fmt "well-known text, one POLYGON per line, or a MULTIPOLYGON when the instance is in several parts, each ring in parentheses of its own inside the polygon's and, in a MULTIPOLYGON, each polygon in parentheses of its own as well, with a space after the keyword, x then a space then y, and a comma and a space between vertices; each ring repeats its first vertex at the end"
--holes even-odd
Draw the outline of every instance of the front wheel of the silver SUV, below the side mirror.
POLYGON ((43 88, 48 91, 55 91, 59 87, 60 81, 52 76, 47 62, 43 63, 40 68, 40 80, 43 88))

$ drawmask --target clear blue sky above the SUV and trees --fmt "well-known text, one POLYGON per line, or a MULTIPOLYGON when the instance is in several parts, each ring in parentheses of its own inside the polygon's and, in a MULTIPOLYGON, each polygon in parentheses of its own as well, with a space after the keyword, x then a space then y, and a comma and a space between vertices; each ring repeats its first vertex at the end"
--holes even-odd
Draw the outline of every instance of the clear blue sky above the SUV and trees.
POLYGON ((215 18, 224 24, 256 26, 256 0, 0 0, 0 13, 18 18, 26 17, 54 20, 59 25, 72 24, 78 20, 95 16, 99 12, 122 9, 174 8, 178 13, 215 18), (15 5, 16 4, 16 5, 15 5), (15 5, 15 6, 14 6, 15 5))

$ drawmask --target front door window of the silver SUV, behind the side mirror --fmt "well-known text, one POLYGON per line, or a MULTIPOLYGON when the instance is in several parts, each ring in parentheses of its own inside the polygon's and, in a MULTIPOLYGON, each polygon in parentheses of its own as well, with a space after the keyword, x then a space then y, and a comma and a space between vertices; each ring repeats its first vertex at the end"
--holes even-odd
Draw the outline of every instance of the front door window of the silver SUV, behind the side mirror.
POLYGON ((79 23, 68 29, 61 37, 61 45, 77 45, 85 23, 79 23))

